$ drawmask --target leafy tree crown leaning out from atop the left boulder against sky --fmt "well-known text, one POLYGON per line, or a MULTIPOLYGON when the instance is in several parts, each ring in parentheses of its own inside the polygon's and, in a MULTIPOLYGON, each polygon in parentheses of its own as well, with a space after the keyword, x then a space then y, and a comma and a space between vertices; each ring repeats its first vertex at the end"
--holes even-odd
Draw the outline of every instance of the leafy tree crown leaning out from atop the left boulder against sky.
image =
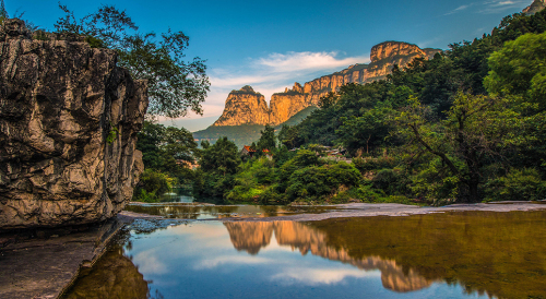
POLYGON ((102 5, 94 13, 78 20, 67 5, 66 13, 55 27, 59 33, 86 36, 92 47, 109 48, 118 52, 119 65, 138 80, 146 80, 152 115, 171 118, 185 116, 188 110, 202 113, 201 103, 209 91, 204 60, 183 60, 189 37, 182 32, 161 34, 140 33, 124 11, 114 5, 102 5))

